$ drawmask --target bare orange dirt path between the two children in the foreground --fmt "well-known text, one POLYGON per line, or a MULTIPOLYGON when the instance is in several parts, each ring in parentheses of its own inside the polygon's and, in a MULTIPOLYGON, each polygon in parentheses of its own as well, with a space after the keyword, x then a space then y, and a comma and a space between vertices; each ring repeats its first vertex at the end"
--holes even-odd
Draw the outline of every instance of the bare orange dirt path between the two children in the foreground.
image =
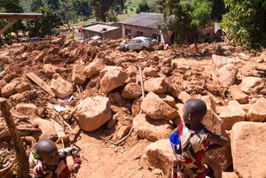
POLYGON ((130 135, 124 146, 104 143, 101 131, 81 134, 76 145, 82 148, 82 166, 77 177, 113 177, 113 178, 154 178, 162 177, 148 169, 145 159, 145 147, 148 141, 137 141, 137 135, 130 135), (129 145, 132 144, 132 145, 129 145))

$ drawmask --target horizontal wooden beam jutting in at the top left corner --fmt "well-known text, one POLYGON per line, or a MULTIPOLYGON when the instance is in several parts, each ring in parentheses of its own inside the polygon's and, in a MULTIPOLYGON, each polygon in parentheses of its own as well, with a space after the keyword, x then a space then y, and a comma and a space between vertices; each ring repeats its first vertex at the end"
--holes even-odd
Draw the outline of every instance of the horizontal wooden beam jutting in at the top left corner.
POLYGON ((43 13, 0 13, 0 19, 43 19, 43 13))

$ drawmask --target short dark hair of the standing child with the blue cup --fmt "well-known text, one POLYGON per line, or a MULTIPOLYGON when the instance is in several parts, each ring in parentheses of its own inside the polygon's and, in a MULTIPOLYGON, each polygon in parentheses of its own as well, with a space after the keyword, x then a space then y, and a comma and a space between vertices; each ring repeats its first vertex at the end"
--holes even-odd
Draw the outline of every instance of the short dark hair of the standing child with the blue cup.
POLYGON ((186 109, 188 109, 188 112, 192 115, 197 115, 200 120, 202 120, 207 113, 207 105, 201 99, 189 99, 184 103, 184 105, 186 109))

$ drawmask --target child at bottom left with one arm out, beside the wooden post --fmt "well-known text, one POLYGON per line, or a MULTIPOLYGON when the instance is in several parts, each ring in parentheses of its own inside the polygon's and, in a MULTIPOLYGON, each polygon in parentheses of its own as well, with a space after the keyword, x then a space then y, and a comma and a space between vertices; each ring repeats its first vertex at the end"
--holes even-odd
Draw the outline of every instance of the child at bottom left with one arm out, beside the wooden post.
POLYGON ((39 159, 34 168, 36 177, 70 178, 70 172, 66 165, 66 156, 72 155, 74 159, 74 172, 80 168, 81 159, 79 149, 67 147, 58 151, 57 146, 49 139, 43 139, 36 143, 35 151, 32 152, 35 159, 39 159))

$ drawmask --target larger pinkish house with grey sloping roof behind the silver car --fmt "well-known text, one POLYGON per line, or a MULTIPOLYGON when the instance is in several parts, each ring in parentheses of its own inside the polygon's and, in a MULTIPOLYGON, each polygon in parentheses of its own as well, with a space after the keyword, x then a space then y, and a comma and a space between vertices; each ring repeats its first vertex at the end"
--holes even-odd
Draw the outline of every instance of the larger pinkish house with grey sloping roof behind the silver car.
MULTIPOLYGON (((157 25, 162 22, 163 15, 160 13, 141 12, 136 16, 124 19, 118 23, 122 25, 122 37, 146 36, 160 41, 161 35, 166 37, 167 33, 160 33, 157 25)), ((164 39, 165 40, 165 39, 164 39)))

